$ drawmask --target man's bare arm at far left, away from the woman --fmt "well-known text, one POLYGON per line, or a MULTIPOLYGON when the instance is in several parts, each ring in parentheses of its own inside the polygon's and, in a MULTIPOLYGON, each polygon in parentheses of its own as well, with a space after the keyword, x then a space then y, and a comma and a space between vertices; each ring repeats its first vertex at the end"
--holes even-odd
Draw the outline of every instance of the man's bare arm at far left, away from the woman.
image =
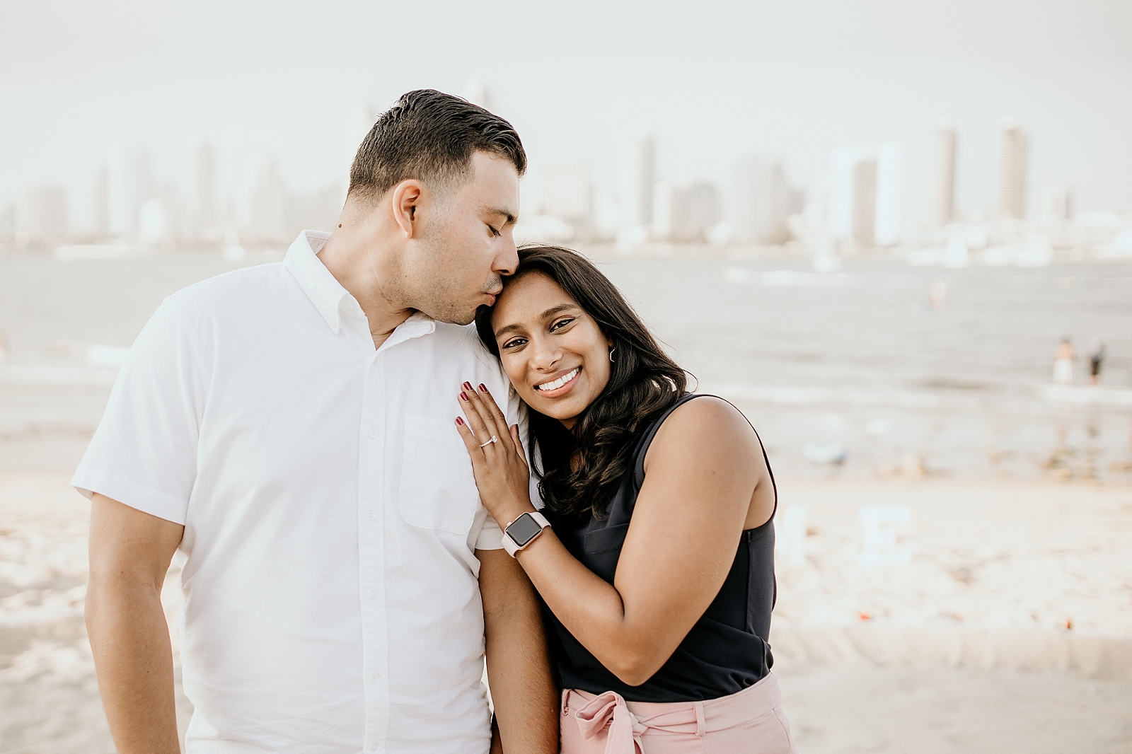
POLYGON ((161 588, 183 532, 103 495, 91 500, 86 631, 119 754, 181 751, 161 588))

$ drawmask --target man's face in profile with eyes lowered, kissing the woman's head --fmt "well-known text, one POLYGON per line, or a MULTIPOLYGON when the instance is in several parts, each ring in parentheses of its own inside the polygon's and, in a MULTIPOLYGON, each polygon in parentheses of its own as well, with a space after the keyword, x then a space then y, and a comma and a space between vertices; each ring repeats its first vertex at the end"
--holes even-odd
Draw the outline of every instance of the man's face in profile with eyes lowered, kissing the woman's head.
POLYGON ((495 303, 500 275, 518 265, 518 172, 505 158, 477 152, 472 179, 432 205, 419 240, 404 257, 409 302, 440 322, 466 325, 495 303))

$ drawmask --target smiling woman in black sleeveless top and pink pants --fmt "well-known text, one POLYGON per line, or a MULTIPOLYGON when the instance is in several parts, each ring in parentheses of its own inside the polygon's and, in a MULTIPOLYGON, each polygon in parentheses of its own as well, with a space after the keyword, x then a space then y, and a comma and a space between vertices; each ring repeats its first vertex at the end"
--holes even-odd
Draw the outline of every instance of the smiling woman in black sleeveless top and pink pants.
POLYGON ((685 374, 567 249, 520 250, 480 337, 530 408, 464 383, 483 505, 548 608, 563 752, 792 752, 770 672, 774 480, 731 404, 685 374), (546 528, 546 524, 551 524, 546 528))

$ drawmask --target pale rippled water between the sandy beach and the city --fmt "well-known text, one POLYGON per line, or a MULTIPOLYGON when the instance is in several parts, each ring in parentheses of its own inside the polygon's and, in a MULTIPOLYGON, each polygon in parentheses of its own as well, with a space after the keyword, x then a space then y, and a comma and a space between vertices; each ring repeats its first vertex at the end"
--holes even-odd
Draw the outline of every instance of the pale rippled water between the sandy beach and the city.
MULTIPOLYGON (((121 349, 162 298, 281 257, 0 257, 0 469, 77 463, 121 349)), ((780 474, 1132 482, 1130 264, 869 259, 820 274, 789 258, 594 259, 700 389, 743 409, 780 474), (1077 382, 1054 388, 1063 336, 1077 382), (1094 337, 1107 349, 1096 388, 1094 337)))

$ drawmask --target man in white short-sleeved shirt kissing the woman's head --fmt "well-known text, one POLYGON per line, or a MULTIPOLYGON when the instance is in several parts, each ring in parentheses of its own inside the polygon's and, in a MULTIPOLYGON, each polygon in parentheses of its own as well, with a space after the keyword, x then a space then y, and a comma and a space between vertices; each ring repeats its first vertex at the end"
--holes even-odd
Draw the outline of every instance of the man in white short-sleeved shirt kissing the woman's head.
POLYGON ((174 552, 191 754, 557 751, 535 596, 454 423, 463 382, 508 394, 461 325, 515 269, 525 166, 505 120, 411 92, 359 148, 333 234, 180 291, 143 329, 72 482, 121 754, 179 751, 174 552))

